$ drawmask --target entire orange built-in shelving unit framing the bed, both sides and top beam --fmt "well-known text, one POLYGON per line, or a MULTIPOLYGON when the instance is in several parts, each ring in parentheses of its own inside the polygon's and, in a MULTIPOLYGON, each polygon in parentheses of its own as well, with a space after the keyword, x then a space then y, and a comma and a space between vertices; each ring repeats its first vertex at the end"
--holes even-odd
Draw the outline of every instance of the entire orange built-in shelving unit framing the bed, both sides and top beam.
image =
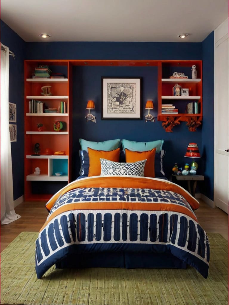
MULTIPOLYGON (((74 66, 141 66, 157 67, 158 69, 158 121, 167 132, 173 127, 186 122, 189 131, 196 131, 202 124, 202 61, 201 60, 25 60, 24 61, 24 198, 25 201, 47 201, 55 193, 53 187, 44 188, 49 183, 71 182, 72 154, 72 70, 74 66), (35 68, 47 65, 54 72, 63 72, 66 78, 33 78, 35 68), (191 78, 192 65, 196 66, 197 77, 191 78), (188 78, 171 79, 174 72, 182 72, 188 78), (189 96, 173 96, 175 84, 189 89, 189 96), (42 87, 51 86, 52 95, 42 95, 42 87), (45 103, 46 108, 60 107, 65 103, 64 113, 31 113, 29 101, 38 100, 45 103), (198 113, 187 113, 190 102, 198 102, 198 113), (162 104, 173 103, 178 109, 177 114, 163 114, 162 104), (64 129, 54 130, 56 121, 63 122, 64 129), (42 129, 38 130, 38 124, 42 129), (35 155, 35 144, 39 143, 40 153, 35 155), (45 155, 46 149, 53 152, 45 155), (56 151, 64 151, 65 155, 54 155, 56 151), (35 175, 39 167, 40 175, 35 175), (56 172, 62 172, 56 176, 56 172), (42 184, 43 183, 43 184, 42 184), (42 185, 39 185, 42 184, 42 185), (37 190, 40 190, 39 192, 37 190)), ((195 104, 196 105, 196 104, 195 104)), ((63 187, 63 186, 62 186, 63 187)))

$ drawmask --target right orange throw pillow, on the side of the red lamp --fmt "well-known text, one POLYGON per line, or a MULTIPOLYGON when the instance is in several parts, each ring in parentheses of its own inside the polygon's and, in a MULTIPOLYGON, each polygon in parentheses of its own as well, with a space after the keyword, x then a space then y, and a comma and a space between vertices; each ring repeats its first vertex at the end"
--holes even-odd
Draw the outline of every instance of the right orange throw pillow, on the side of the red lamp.
POLYGON ((153 148, 152 150, 148 150, 146 152, 134 152, 132 150, 125 148, 125 162, 132 163, 132 162, 147 159, 146 165, 144 168, 144 176, 154 178, 155 177, 155 170, 154 170, 155 153, 156 153, 156 148, 153 148))

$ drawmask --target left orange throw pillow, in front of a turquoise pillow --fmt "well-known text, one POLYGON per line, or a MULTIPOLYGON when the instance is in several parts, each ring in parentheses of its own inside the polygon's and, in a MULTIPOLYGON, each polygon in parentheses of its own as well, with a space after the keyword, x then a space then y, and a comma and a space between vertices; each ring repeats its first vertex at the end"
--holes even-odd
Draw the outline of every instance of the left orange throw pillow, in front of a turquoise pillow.
POLYGON ((105 151, 105 150, 95 150, 88 147, 88 156, 89 156, 88 177, 100 176, 101 174, 100 158, 119 162, 119 155, 120 155, 120 148, 110 151, 105 151))

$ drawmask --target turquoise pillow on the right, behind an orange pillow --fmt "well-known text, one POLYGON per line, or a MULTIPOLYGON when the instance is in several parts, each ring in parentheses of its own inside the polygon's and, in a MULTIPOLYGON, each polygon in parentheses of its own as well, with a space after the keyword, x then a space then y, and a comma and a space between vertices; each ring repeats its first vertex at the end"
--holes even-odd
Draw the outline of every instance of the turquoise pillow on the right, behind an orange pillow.
POLYGON ((159 153, 162 150, 163 143, 164 140, 157 140, 152 142, 135 142, 129 140, 122 140, 122 148, 124 151, 125 148, 127 148, 136 152, 144 152, 156 147, 156 152, 159 153))

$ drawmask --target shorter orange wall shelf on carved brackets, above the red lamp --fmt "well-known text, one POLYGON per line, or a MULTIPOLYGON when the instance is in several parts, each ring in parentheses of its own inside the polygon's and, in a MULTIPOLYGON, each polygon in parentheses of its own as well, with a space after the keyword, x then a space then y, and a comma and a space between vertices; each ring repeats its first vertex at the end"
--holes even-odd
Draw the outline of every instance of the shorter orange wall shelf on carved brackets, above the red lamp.
POLYGON ((182 121, 187 122, 189 131, 196 131, 196 128, 202 124, 201 60, 165 60, 158 64, 158 121, 163 122, 162 126, 167 132, 172 132, 173 127, 180 125, 182 121), (191 77, 193 65, 196 66, 198 75, 198 78, 195 79, 191 77), (188 78, 170 78, 174 72, 184 73, 188 78), (173 87, 176 84, 188 89, 189 95, 174 96, 173 87), (171 104, 178 110, 174 113, 172 111, 163 113, 163 104, 171 104))

